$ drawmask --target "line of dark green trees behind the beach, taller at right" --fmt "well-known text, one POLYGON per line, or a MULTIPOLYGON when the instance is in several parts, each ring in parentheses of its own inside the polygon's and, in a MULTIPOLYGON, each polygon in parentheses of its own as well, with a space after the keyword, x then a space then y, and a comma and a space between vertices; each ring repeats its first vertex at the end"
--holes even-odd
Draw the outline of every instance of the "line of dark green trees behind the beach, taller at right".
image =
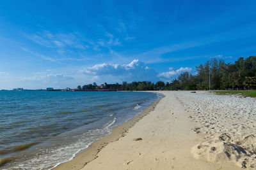
POLYGON ((240 57, 232 63, 224 60, 211 59, 196 66, 196 74, 181 73, 178 78, 164 83, 157 81, 132 81, 122 84, 105 84, 98 86, 96 83, 80 85, 79 90, 241 90, 256 89, 256 57, 246 59, 240 57))

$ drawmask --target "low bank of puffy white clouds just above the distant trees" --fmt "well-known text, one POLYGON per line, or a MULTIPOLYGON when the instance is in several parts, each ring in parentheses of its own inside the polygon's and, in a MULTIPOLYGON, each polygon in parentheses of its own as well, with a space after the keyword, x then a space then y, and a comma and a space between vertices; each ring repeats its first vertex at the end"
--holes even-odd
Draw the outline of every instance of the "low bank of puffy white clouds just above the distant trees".
POLYGON ((91 75, 90 81, 116 83, 122 81, 172 81, 180 73, 186 71, 192 73, 193 69, 191 67, 180 67, 175 70, 170 67, 167 72, 157 73, 154 69, 145 66, 145 63, 135 59, 129 64, 96 64, 92 67, 86 67, 81 72, 91 75))

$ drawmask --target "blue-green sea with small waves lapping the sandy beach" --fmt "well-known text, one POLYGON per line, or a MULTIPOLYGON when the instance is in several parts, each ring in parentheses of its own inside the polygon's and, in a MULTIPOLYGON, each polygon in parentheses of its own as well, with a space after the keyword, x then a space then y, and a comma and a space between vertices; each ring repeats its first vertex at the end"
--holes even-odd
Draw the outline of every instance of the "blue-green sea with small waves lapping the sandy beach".
POLYGON ((0 91, 0 169, 51 169, 72 159, 159 94, 0 91))

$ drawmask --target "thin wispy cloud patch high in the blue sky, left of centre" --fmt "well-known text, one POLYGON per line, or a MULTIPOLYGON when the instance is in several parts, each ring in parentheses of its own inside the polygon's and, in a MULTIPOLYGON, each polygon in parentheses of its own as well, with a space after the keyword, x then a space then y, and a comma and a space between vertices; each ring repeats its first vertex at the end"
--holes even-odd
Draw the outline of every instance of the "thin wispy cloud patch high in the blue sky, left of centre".
MULTIPOLYGON (((45 46, 47 48, 56 49, 56 53, 64 55, 65 52, 77 52, 77 50, 109 50, 111 52, 113 46, 122 46, 120 38, 115 37, 109 32, 105 32, 101 37, 88 39, 84 38, 83 34, 78 32, 53 33, 50 31, 41 31, 34 34, 26 34, 26 37, 38 45, 45 46)), ((133 37, 127 37, 125 39, 133 39, 133 37)))

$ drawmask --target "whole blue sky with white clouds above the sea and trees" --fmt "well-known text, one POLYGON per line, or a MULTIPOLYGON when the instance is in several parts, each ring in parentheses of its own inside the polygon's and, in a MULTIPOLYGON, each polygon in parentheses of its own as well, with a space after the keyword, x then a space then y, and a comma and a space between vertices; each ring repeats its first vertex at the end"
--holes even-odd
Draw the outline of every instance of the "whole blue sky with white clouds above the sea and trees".
POLYGON ((171 81, 256 53, 256 1, 0 4, 0 89, 171 81))

